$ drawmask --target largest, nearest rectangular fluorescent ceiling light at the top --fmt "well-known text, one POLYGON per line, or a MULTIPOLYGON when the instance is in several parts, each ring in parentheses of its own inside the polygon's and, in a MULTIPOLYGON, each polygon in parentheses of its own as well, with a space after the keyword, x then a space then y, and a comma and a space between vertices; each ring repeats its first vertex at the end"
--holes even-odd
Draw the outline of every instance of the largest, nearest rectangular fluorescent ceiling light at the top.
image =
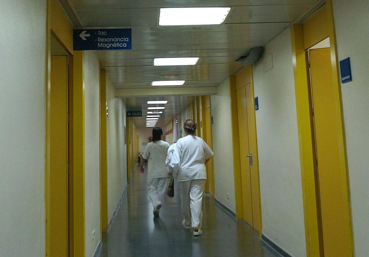
POLYGON ((160 8, 159 25, 222 24, 230 7, 160 8))

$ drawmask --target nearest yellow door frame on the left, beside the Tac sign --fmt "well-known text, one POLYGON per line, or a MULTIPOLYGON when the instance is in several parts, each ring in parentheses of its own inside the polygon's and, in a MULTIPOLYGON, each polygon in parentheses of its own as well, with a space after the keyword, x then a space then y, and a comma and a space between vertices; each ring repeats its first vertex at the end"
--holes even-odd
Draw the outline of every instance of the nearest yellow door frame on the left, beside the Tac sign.
POLYGON ((69 256, 85 256, 85 88, 83 52, 73 52, 73 27, 56 0, 46 1, 45 256, 50 248, 51 35, 69 53, 69 256), (78 185, 74 187, 73 185, 78 185))

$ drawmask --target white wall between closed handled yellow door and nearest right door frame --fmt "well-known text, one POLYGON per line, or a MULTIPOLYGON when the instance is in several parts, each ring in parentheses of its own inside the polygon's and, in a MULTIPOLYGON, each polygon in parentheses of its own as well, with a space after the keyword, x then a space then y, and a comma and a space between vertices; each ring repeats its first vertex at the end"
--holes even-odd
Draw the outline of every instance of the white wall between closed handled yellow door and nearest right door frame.
POLYGON ((292 256, 306 256, 290 30, 253 67, 263 234, 292 256), (266 57, 272 53, 273 68, 266 57))

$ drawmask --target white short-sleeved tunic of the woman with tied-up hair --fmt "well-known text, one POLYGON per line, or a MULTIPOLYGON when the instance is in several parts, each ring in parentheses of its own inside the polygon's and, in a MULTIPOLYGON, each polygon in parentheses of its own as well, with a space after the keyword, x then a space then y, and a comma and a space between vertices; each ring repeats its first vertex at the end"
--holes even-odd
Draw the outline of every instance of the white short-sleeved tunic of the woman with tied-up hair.
POLYGON ((206 142, 195 135, 187 135, 177 141, 177 154, 180 159, 177 181, 206 179, 205 160, 213 156, 206 142))

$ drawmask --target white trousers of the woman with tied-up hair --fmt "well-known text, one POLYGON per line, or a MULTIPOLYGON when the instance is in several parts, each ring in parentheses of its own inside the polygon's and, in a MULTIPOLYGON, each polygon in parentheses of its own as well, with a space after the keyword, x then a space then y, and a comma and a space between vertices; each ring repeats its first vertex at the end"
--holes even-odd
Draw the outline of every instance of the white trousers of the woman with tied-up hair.
POLYGON ((203 222, 203 194, 206 179, 194 179, 178 182, 181 207, 186 225, 201 228, 203 222))

